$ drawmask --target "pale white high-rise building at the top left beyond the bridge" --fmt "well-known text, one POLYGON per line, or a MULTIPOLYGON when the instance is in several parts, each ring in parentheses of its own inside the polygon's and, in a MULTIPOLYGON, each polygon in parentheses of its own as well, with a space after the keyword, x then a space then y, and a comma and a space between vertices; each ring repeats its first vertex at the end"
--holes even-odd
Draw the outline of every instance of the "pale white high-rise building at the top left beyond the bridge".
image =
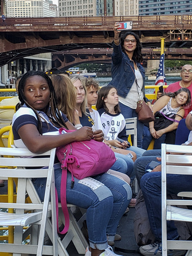
POLYGON ((54 17, 57 16, 57 10, 53 6, 47 0, 7 0, 7 18, 54 17))

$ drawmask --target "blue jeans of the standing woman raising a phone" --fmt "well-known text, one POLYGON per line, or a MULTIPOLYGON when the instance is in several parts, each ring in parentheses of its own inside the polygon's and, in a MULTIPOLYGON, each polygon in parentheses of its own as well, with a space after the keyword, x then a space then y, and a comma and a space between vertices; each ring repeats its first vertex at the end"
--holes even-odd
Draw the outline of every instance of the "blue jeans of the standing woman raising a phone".
MULTIPOLYGON (((130 107, 122 104, 119 102, 120 110, 122 112, 122 115, 124 118, 131 118, 131 117, 137 117, 137 113, 135 112, 135 109, 131 109, 130 107)), ((137 119, 137 147, 142 148, 142 141, 143 141, 143 126, 144 123, 141 123, 137 119)))

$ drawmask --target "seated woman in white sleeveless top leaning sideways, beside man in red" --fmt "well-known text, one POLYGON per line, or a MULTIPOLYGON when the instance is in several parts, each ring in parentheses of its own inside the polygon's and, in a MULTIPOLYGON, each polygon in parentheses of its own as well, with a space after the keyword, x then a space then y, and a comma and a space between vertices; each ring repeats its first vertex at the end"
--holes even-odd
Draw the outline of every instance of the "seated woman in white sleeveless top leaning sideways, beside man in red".
POLYGON ((187 88, 181 88, 174 93, 167 93, 159 98, 152 106, 155 122, 149 123, 150 133, 148 133, 148 137, 143 138, 143 144, 145 145, 146 142, 149 144, 152 138, 155 139, 154 149, 160 149, 161 143, 174 144, 178 123, 185 114, 183 106, 189 105, 190 102, 191 94, 187 88), (172 139, 169 138, 169 142, 165 142, 168 133, 168 137, 172 139))

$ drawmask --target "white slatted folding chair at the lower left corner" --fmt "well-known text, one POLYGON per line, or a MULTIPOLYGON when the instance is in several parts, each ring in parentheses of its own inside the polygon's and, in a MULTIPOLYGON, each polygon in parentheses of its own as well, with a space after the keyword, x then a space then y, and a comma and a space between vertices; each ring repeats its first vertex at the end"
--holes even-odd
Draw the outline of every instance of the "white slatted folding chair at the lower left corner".
POLYGON ((1 252, 13 255, 58 255, 56 212, 55 212, 55 181, 53 164, 55 149, 44 154, 33 154, 26 148, 0 148, 0 176, 13 177, 18 180, 16 203, 0 203, 0 208, 14 209, 14 213, 0 212, 0 225, 15 226, 14 242, 1 243, 1 252), (21 157, 20 156, 27 156, 21 157), (38 156, 38 158, 34 158, 38 156), (4 168, 5 167, 5 168, 4 168), (16 167, 16 168, 15 168, 16 167), (47 167, 41 169, 41 167, 47 167), (47 178, 44 202, 37 196, 31 178, 47 178), (29 196, 31 203, 26 202, 29 196), (51 203, 49 203, 51 195, 51 203), (49 210, 48 210, 49 209, 49 210), (51 217, 52 221, 48 220, 51 217), (53 246, 44 246, 45 226, 49 222, 53 246), (50 224, 51 223, 51 224, 50 224), (28 226, 27 226, 28 225, 28 226), (23 232, 23 227, 27 229, 23 232), (23 240, 30 235, 30 244, 24 245, 23 240))

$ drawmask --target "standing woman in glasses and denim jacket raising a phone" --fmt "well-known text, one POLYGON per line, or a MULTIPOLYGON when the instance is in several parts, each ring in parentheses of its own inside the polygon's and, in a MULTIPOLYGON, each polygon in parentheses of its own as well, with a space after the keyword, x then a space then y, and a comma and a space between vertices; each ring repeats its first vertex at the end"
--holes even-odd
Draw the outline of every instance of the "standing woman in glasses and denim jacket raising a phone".
MULTIPOLYGON (((110 85, 118 91, 119 106, 124 118, 137 117, 135 109, 137 101, 145 98, 145 71, 141 65, 141 43, 139 36, 131 31, 126 31, 119 38, 119 24, 114 26, 114 42, 112 47, 112 81, 110 85), (136 84, 137 80, 137 84, 136 84)), ((150 105, 150 102, 148 103, 150 105)), ((137 120, 137 146, 142 148, 144 124, 137 120)))

